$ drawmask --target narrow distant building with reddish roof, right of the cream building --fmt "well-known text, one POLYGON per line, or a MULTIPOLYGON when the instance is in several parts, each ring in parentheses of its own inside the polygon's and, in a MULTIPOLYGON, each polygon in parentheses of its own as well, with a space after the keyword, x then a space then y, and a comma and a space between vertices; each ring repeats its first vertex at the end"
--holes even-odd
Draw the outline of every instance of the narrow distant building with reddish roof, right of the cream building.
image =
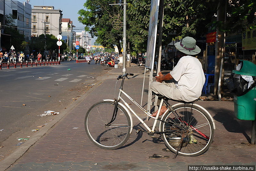
POLYGON ((73 22, 70 20, 70 18, 62 18, 61 20, 62 39, 71 48, 74 44, 75 36, 76 36, 76 32, 73 30, 74 27, 76 26, 73 25, 73 22))

